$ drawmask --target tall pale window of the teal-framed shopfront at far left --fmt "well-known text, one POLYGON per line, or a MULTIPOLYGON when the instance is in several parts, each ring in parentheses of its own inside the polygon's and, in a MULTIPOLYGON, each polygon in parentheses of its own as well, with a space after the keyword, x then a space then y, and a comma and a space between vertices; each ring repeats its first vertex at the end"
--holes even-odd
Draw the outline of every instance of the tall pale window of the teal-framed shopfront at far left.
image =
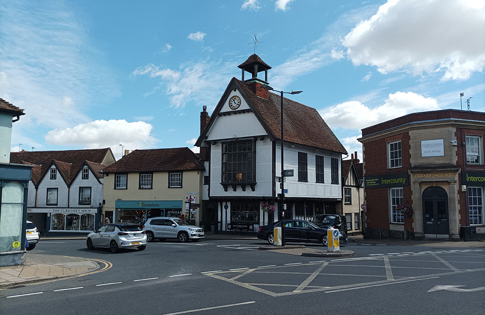
POLYGON ((0 252, 20 250, 12 244, 22 240, 24 187, 19 182, 9 182, 0 189, 0 252))

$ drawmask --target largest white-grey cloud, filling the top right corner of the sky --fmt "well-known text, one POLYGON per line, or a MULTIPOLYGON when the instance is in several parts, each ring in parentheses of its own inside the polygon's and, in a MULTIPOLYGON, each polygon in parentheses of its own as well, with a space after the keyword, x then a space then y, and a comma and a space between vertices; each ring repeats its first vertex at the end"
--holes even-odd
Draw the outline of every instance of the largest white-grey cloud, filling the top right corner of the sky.
POLYGON ((443 73, 467 80, 485 67, 485 3, 389 0, 348 33, 343 44, 355 65, 380 73, 443 73))

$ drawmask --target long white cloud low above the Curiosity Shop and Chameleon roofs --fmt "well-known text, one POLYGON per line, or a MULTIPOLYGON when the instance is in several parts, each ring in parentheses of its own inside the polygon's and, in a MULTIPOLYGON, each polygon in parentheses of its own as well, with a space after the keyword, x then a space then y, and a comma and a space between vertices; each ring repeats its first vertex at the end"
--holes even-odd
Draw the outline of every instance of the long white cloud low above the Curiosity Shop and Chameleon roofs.
POLYGON ((57 145, 74 145, 85 148, 111 147, 116 156, 121 156, 119 144, 125 149, 153 147, 160 140, 150 135, 153 126, 149 123, 127 122, 126 120, 96 120, 79 124, 73 128, 51 130, 45 141, 57 145), (120 152, 118 154, 117 152, 120 152))

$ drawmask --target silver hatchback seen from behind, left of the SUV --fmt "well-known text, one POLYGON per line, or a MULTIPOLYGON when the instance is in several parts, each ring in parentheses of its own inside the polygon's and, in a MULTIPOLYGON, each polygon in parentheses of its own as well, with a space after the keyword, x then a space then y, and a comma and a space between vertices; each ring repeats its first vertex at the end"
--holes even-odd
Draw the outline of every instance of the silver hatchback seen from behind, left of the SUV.
POLYGON ((98 231, 91 232, 86 238, 87 249, 106 247, 112 252, 120 248, 137 247, 143 250, 147 247, 147 234, 140 226, 126 223, 112 223, 102 226, 98 231))

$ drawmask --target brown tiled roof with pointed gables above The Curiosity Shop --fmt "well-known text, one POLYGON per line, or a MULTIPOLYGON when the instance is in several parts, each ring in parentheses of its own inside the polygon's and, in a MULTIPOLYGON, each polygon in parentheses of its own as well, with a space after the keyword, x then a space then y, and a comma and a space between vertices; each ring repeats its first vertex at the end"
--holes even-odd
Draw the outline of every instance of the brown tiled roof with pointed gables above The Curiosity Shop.
MULTIPOLYGON (((70 185, 84 162, 101 165, 107 154, 112 154, 110 148, 64 151, 22 151, 10 152, 10 162, 36 165, 32 169, 32 182, 35 185, 40 182, 44 174, 49 171, 51 164, 54 163, 60 175, 66 181, 66 184, 70 185)), ((91 168, 94 171, 94 168, 91 168)), ((100 167, 95 168, 99 169, 100 167)), ((96 176, 102 175, 96 174, 96 176)))

